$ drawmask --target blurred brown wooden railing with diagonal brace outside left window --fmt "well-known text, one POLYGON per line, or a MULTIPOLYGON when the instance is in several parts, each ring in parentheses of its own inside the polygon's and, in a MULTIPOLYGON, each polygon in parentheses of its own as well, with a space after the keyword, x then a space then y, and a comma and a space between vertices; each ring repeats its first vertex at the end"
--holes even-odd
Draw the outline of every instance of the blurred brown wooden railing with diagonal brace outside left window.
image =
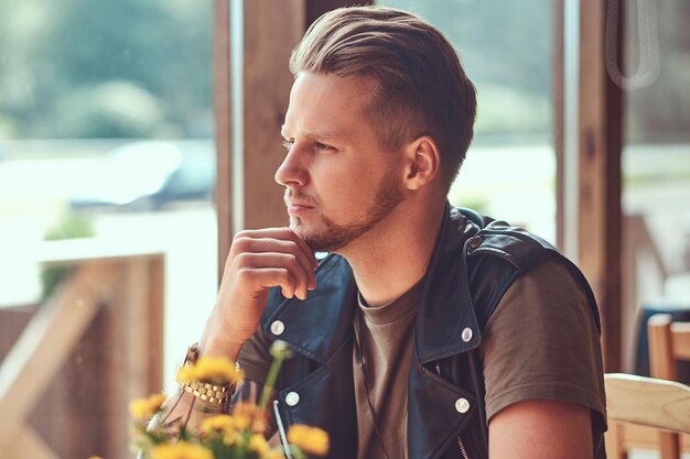
POLYGON ((128 402, 162 389, 163 265, 85 261, 31 317, 0 367, 0 457, 129 456, 128 402))

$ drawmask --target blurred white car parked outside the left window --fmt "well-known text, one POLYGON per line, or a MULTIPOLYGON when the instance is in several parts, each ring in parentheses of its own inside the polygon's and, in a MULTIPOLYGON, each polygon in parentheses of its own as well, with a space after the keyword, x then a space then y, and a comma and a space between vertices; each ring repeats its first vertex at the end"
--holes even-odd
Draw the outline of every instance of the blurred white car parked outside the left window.
POLYGON ((208 141, 141 141, 108 153, 69 198, 75 210, 161 210, 182 201, 211 201, 215 151, 208 141))

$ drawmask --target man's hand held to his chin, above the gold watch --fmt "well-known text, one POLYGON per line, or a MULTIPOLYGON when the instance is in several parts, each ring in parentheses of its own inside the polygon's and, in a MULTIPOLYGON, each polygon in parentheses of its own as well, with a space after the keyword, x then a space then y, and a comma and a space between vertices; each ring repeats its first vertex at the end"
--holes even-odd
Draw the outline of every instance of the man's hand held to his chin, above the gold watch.
POLYGON ((238 232, 233 239, 218 298, 200 341, 202 354, 233 360, 259 326, 268 291, 279 286, 283 296, 305 299, 315 288, 314 253, 289 228, 238 232))

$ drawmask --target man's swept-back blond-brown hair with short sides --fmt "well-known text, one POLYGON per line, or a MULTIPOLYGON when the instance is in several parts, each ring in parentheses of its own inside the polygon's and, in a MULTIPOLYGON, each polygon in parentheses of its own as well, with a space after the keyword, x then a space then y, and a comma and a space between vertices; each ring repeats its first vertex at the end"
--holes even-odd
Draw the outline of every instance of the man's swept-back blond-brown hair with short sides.
POLYGON ((476 91, 453 46, 428 22, 391 8, 330 11, 292 52, 290 72, 373 78, 367 114, 381 147, 431 136, 450 188, 472 141, 476 91))

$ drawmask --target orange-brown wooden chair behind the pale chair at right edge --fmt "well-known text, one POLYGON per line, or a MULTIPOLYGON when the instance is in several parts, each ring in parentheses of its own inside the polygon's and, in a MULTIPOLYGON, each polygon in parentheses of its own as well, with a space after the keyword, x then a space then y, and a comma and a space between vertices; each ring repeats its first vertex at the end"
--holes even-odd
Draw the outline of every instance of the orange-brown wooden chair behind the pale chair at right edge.
MULTIPOLYGON (((678 360, 690 360, 690 323, 673 323, 669 314, 656 314, 648 321, 649 372, 654 378, 678 381, 678 360)), ((659 435, 661 458, 678 457, 678 434, 659 435)))

